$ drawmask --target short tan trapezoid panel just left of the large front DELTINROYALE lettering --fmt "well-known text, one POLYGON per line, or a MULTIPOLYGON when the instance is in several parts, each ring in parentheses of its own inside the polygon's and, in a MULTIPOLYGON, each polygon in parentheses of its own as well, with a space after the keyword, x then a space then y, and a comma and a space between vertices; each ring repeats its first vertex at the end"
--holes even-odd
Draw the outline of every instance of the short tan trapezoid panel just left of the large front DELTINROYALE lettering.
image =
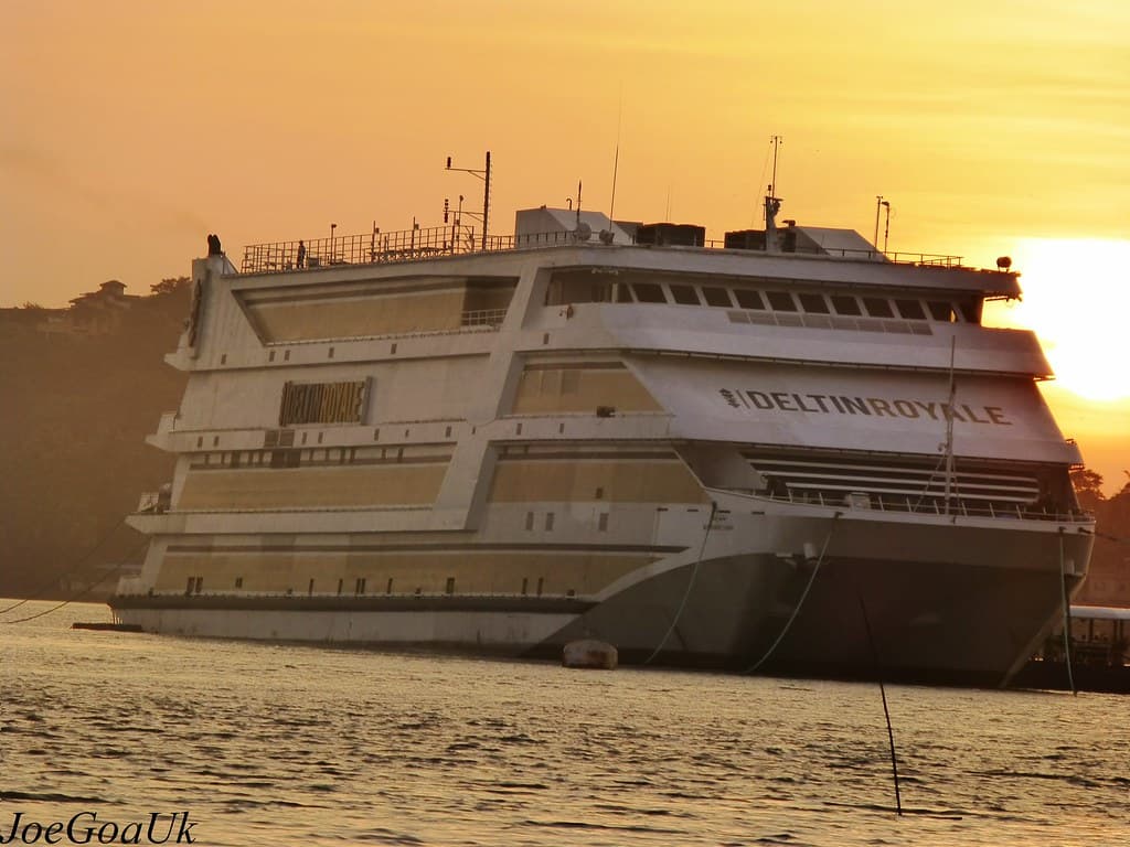
POLYGON ((596 412, 607 405, 618 412, 660 412, 663 408, 619 363, 584 367, 527 367, 514 396, 513 414, 596 412))

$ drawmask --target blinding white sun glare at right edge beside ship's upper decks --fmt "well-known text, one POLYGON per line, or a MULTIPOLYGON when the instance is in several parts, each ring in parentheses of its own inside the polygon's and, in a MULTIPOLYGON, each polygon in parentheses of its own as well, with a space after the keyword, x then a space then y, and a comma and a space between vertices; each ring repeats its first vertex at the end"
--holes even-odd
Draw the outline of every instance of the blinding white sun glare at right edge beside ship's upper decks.
POLYGON ((1023 302, 997 306, 986 320, 1035 331, 1067 391, 1130 398, 1130 242, 1026 238, 1012 268, 1023 302))

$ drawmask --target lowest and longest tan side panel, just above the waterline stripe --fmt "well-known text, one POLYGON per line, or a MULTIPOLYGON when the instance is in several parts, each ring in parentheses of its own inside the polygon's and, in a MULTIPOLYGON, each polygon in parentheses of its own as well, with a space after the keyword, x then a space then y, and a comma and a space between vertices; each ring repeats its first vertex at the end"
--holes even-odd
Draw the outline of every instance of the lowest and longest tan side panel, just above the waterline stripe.
POLYGON ((183 591, 189 577, 202 577, 206 593, 233 591, 295 594, 310 592, 337 594, 341 580, 344 595, 356 593, 358 579, 365 580, 366 594, 384 594, 392 579, 392 594, 443 594, 447 579, 454 579, 454 594, 520 595, 525 580, 530 595, 575 592, 591 596, 625 574, 651 564, 658 557, 647 552, 605 553, 600 551, 521 552, 468 550, 389 553, 320 552, 189 552, 166 553, 157 591, 183 591), (240 587, 236 588, 236 579, 240 587))

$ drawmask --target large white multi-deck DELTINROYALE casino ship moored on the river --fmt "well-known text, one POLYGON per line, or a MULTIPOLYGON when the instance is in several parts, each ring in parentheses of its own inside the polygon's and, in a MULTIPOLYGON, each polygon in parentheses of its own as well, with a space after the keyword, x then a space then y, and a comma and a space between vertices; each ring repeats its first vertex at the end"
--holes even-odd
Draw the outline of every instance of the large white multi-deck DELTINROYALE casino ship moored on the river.
MULTIPOLYGON (((1007 268, 530 209, 210 241, 167 357, 146 630, 1003 684, 1083 579, 1007 268)), ((1003 263, 1002 264, 1007 264, 1003 263)))

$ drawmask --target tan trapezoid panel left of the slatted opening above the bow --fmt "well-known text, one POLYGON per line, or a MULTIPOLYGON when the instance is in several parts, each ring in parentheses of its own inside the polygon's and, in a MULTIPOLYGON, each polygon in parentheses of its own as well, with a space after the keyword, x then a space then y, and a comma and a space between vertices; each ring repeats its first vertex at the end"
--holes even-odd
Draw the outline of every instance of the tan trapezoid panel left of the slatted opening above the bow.
POLYGON ((502 457, 490 484, 495 503, 705 503, 678 457, 522 460, 502 457))

